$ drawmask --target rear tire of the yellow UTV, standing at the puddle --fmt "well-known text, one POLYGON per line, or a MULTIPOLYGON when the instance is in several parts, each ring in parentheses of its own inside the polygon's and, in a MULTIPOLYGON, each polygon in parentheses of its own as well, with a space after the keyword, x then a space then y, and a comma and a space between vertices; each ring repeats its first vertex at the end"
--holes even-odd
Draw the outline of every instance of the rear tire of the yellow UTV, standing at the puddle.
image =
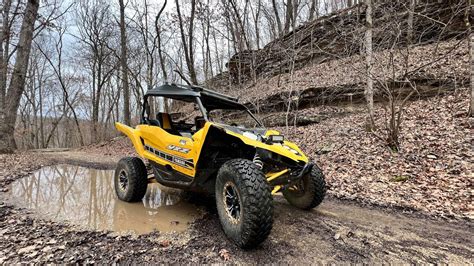
POLYGON ((115 169, 114 187, 120 200, 140 201, 148 186, 147 170, 140 158, 122 158, 115 169))

